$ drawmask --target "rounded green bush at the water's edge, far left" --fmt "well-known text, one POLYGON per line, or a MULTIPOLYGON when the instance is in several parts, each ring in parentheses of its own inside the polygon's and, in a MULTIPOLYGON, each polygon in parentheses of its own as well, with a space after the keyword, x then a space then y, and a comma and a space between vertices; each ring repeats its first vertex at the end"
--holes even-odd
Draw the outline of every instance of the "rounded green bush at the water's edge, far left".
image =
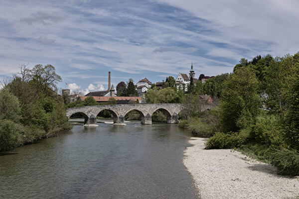
POLYGON ((7 151, 17 147, 20 143, 22 126, 11 120, 2 120, 0 125, 0 151, 7 151))

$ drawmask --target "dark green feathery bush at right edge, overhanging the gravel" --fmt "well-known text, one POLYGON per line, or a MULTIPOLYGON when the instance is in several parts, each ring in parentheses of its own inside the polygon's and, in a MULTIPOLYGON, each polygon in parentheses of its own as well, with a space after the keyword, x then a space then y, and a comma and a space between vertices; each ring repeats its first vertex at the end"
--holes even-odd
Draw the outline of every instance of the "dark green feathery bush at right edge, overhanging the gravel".
POLYGON ((276 166, 277 173, 281 175, 299 175, 299 152, 286 148, 276 149, 271 153, 271 164, 276 166))

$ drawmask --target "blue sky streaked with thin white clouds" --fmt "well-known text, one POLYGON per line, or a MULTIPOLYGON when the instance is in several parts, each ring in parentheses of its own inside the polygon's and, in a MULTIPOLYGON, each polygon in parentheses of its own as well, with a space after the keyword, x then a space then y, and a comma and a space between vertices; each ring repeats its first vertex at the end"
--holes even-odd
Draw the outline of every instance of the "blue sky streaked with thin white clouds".
POLYGON ((108 89, 299 51, 298 0, 0 0, 0 80, 51 64, 58 87, 108 89), (66 83, 68 83, 66 85, 66 83))

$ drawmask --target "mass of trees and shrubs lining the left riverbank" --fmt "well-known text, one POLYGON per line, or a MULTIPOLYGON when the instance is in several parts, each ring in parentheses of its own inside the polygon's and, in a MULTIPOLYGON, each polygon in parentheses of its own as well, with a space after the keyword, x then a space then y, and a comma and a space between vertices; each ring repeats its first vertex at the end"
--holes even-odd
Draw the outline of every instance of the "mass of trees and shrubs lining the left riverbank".
POLYGON ((36 65, 5 81, 0 90, 0 151, 68 130, 64 100, 57 94, 61 77, 52 65, 36 65))

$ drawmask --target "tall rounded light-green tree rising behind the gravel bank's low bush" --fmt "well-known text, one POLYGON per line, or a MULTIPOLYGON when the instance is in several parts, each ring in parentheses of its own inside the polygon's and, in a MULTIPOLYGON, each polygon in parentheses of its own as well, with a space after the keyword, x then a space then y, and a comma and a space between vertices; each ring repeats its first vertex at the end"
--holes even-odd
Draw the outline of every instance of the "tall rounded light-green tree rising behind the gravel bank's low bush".
POLYGON ((224 132, 250 125, 259 112, 258 80, 252 69, 236 70, 225 83, 220 101, 220 125, 224 132))

